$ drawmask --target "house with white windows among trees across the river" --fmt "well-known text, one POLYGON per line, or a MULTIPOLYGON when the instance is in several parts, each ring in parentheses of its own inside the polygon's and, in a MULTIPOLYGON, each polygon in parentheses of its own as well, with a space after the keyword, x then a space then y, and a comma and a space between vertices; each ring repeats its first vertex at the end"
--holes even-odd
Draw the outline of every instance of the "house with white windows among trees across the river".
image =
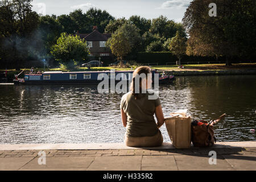
POLYGON ((93 27, 93 32, 90 34, 75 34, 80 36, 81 39, 86 40, 87 47, 90 49, 90 56, 112 56, 110 50, 105 46, 106 41, 111 37, 111 34, 102 34, 97 30, 97 27, 93 27))

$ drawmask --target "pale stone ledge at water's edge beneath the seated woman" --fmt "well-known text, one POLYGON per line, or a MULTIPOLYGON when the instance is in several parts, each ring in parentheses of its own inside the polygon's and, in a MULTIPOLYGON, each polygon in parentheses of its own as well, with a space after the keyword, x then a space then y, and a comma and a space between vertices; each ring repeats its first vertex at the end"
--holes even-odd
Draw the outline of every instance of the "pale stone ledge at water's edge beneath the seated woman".
MULTIPOLYGON (((256 148, 256 141, 217 142, 211 148, 256 148)), ((174 149, 171 143, 160 147, 127 147, 124 143, 42 143, 42 144, 0 144, 0 151, 12 150, 109 150, 109 149, 174 149)), ((199 148, 193 147, 191 148, 199 148)))

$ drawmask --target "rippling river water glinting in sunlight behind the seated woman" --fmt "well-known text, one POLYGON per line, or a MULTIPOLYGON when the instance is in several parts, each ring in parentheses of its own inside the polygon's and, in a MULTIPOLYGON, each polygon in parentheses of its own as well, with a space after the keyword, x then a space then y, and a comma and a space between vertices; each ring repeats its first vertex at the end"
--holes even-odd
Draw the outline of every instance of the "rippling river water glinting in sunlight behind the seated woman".
MULTIPOLYGON (((176 77, 159 86, 164 117, 188 109, 210 121, 218 141, 255 140, 256 79, 244 76, 176 77)), ((123 142, 119 103, 122 94, 97 92, 97 85, 0 85, 0 143, 123 142)), ((170 142, 166 126, 164 142, 170 142)))

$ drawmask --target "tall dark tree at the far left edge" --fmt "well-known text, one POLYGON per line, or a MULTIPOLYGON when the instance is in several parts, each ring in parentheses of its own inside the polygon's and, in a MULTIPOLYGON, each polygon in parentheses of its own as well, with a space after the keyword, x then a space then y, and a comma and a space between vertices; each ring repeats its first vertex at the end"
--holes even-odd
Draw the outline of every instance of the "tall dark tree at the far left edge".
POLYGON ((22 67, 32 48, 32 36, 39 24, 39 16, 31 10, 32 0, 0 1, 0 47, 5 54, 6 65, 13 64, 16 69, 22 67), (13 63, 9 63, 13 61, 13 63))

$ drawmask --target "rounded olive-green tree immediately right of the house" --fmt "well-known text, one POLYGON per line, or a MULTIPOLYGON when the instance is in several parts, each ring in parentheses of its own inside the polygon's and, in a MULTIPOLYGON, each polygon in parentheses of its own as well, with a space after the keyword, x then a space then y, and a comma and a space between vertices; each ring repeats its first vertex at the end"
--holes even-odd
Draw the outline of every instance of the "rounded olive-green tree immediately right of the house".
POLYGON ((115 32, 110 39, 106 42, 112 53, 118 57, 119 60, 123 60, 123 57, 131 52, 131 44, 123 31, 115 32))

